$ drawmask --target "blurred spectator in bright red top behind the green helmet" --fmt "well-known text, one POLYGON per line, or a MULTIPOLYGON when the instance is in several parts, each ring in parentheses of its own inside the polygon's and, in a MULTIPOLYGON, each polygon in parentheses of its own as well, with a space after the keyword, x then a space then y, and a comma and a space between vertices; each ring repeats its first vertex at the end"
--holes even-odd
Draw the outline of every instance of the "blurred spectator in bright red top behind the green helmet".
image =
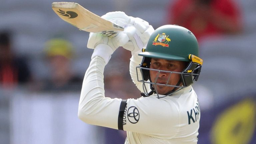
POLYGON ((197 39, 241 31, 240 9, 233 0, 176 0, 168 7, 169 24, 191 30, 197 39))

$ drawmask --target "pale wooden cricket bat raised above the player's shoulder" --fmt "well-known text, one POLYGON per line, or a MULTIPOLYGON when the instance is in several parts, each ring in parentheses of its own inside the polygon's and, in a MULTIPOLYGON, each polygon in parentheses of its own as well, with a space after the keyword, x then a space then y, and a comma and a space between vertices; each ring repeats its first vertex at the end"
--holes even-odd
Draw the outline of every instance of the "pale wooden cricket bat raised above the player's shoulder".
POLYGON ((52 9, 61 19, 83 31, 115 37, 124 30, 124 27, 101 18, 78 3, 53 2, 52 9))

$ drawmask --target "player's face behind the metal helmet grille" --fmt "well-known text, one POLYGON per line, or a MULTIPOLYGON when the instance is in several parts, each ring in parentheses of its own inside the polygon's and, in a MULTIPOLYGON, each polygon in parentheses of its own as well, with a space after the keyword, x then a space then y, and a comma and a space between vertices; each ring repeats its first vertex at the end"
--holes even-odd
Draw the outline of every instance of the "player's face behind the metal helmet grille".
MULTIPOLYGON (((164 70, 164 71, 182 72, 185 69, 185 62, 151 58, 150 68, 157 69, 157 70, 164 70)), ((151 81, 152 82, 156 81, 156 83, 160 83, 160 84, 166 84, 170 75, 171 76, 170 76, 168 85, 175 86, 180 80, 180 74, 176 74, 176 73, 168 73, 168 72, 159 73, 158 71, 154 71, 154 70, 150 70, 149 73, 150 73, 151 81)), ((157 89, 158 94, 166 94, 174 89, 174 87, 164 86, 164 85, 155 85, 154 88, 157 89)))

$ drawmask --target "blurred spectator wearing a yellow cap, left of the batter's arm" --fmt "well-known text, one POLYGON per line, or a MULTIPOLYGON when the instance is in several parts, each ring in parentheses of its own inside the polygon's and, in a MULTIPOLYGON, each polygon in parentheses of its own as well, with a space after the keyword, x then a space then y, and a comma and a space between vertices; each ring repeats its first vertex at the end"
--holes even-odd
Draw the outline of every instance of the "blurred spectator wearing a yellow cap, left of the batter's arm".
POLYGON ((64 39, 54 38, 46 42, 46 58, 50 76, 43 90, 77 91, 81 90, 82 78, 72 72, 71 60, 74 56, 72 44, 64 39))

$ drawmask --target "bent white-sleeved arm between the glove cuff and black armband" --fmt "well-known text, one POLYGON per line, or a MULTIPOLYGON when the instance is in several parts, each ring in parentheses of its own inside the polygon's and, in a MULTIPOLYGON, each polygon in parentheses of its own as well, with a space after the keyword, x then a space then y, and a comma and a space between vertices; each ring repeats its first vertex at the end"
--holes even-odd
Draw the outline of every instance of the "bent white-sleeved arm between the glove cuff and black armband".
POLYGON ((105 97, 104 67, 105 61, 101 57, 96 56, 92 58, 84 76, 78 117, 88 124, 117 129, 117 117, 114 116, 118 115, 121 99, 105 97))

